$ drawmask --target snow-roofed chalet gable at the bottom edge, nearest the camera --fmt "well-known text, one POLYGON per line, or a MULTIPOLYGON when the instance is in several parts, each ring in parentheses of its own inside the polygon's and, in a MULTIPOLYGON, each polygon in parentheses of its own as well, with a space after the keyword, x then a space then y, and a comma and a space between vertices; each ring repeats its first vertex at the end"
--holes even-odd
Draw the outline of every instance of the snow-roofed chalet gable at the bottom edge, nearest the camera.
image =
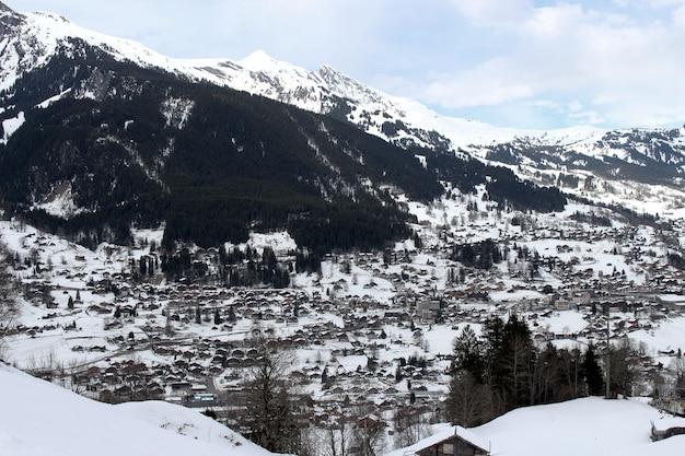
POLYGON ((489 456, 489 441, 457 425, 385 456, 489 456))

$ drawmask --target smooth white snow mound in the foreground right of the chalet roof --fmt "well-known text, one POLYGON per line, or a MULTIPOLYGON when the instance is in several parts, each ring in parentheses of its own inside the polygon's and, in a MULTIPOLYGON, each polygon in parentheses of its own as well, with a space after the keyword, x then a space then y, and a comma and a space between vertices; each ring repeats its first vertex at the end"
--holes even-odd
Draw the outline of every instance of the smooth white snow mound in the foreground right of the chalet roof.
POLYGON ((509 412, 472 429, 498 456, 666 456, 681 454, 685 435, 651 442, 664 414, 638 400, 576 399, 509 412))

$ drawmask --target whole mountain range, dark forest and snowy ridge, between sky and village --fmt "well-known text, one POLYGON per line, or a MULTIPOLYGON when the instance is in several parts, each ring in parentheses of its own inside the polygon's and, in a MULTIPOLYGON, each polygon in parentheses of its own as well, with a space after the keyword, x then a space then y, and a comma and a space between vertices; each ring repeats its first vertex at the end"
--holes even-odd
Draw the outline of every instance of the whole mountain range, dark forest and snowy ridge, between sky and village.
POLYGON ((685 201, 682 128, 496 128, 329 67, 171 59, 2 3, 0 121, 5 217, 85 244, 164 223, 167 246, 288 229, 320 253, 380 248, 411 235, 397 195, 430 201, 443 182, 510 209, 685 201))

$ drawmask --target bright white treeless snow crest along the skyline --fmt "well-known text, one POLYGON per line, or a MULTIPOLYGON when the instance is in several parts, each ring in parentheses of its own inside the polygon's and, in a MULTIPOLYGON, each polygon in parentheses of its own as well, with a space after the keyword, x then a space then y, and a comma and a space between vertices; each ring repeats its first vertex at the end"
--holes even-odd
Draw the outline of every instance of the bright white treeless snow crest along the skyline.
MULTIPOLYGON (((22 15, 13 12, 13 10, 7 5, 3 7, 4 12, 22 15)), ((571 145, 578 143, 584 144, 596 139, 597 136, 603 136, 609 131, 678 130, 662 128, 619 128, 606 130, 589 126, 576 126, 553 130, 521 130, 495 127, 477 120, 441 116, 427 106, 409 98, 387 95, 381 91, 371 89, 345 75, 330 66, 323 65, 317 71, 309 71, 302 67, 276 60, 263 49, 256 50, 249 56, 234 61, 222 58, 175 59, 162 56, 143 45, 128 39, 88 31, 69 22, 65 17, 51 13, 30 13, 24 16, 30 19, 33 17, 34 21, 37 17, 40 17, 44 21, 42 24, 38 23, 39 21, 36 21, 36 24, 34 25, 45 26, 45 22, 48 21, 51 21, 53 24, 61 23, 65 25, 60 36, 62 39, 67 36, 81 34, 81 38, 88 40, 91 45, 101 46, 103 49, 109 51, 112 56, 118 56, 121 59, 127 59, 139 65, 143 63, 147 68, 176 71, 179 74, 195 79, 196 81, 205 80, 227 85, 232 89, 243 90, 248 93, 260 94, 263 96, 293 104, 303 109, 313 110, 318 114, 328 114, 327 109, 332 108, 327 105, 327 102, 329 102, 329 98, 327 98, 328 96, 353 100, 357 103, 382 104, 383 107, 385 107, 383 113, 386 116, 388 113, 392 113, 392 117, 399 119, 408 116, 407 112, 409 108, 415 112, 423 110, 423 113, 419 113, 421 116, 427 116, 430 121, 440 120, 441 124, 443 124, 440 129, 450 128, 444 126, 444 124, 452 124, 453 129, 461 129, 458 135, 456 132, 451 133, 453 137, 461 136, 464 138, 462 141, 456 141, 454 138, 451 138, 453 141, 453 149, 468 145, 487 145, 491 142, 510 142, 514 138, 531 138, 548 144, 571 145), (69 35, 69 33, 71 35, 69 35), (251 77, 247 78, 248 75, 251 77), (266 86, 263 84, 265 81, 275 82, 275 84, 266 86), (320 85, 307 85, 307 81, 320 85), (321 86, 322 83, 326 84, 326 86, 321 86), (295 96, 295 94, 299 96, 295 96), (312 94, 315 94, 316 97, 312 97, 312 94), (314 105, 312 102, 316 102, 317 104, 314 105)), ((55 38, 57 38, 57 36, 55 38)), ((426 120, 422 121, 425 122, 426 120)), ((426 126, 420 125, 418 128, 426 128, 426 126)), ((368 128, 367 131, 372 133, 379 132, 379 130, 371 128, 368 128)))

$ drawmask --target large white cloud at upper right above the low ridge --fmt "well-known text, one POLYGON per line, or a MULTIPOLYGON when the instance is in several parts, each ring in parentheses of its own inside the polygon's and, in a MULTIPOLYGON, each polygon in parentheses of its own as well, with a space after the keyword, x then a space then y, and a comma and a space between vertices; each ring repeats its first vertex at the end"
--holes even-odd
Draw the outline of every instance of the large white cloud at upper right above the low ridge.
MULTIPOLYGON (((481 20, 479 7, 463 11, 481 20)), ((683 23, 683 7, 649 20, 579 3, 534 8, 507 32, 498 57, 427 81, 422 98, 444 108, 518 103, 523 109, 556 96, 567 100, 569 124, 680 124, 683 23)))

